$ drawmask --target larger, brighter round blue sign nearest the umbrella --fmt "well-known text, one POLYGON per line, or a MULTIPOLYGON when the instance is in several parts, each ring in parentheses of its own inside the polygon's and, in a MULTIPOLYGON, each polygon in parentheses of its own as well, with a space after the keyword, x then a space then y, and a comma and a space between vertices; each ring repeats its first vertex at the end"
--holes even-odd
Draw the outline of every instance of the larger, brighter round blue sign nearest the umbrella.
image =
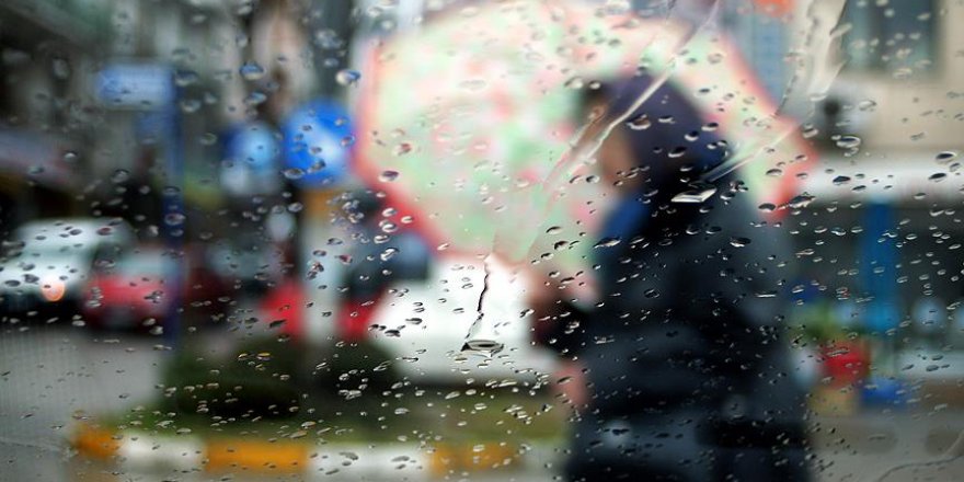
POLYGON ((285 176, 302 187, 320 187, 348 173, 354 144, 348 113, 329 101, 311 102, 288 116, 284 134, 285 176))

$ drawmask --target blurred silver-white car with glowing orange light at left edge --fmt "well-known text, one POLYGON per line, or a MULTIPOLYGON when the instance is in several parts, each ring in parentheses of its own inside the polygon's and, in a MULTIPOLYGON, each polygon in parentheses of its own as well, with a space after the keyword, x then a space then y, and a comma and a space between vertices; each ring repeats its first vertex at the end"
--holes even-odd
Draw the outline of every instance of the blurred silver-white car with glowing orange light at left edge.
POLYGON ((21 226, 3 243, 2 311, 76 312, 96 260, 116 255, 134 239, 119 219, 42 219, 21 226))

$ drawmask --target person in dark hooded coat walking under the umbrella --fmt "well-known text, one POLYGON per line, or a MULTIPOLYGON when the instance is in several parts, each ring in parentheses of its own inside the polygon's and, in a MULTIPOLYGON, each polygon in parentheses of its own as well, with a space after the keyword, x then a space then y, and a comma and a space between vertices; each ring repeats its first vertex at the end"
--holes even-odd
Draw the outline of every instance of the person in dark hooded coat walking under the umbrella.
MULTIPOLYGON (((589 107, 611 118, 651 82, 604 85, 589 107)), ((619 198, 594 250, 599 300, 547 303, 552 286, 533 297, 537 336, 565 358, 559 388, 576 410, 570 480, 808 480, 783 338, 788 234, 735 177, 704 202, 673 202, 726 156, 715 125, 668 84, 597 152, 619 198)))

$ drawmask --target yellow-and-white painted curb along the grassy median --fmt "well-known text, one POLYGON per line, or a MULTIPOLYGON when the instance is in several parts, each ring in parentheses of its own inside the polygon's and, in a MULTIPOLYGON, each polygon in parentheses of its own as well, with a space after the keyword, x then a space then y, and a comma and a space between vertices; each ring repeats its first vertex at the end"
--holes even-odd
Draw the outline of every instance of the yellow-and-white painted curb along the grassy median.
POLYGON ((158 436, 140 431, 111 431, 78 424, 70 437, 78 455, 130 470, 170 468, 208 473, 369 475, 392 479, 444 477, 460 472, 523 470, 526 459, 544 456, 544 447, 485 444, 325 444, 216 437, 158 436), (532 457, 537 456, 537 457, 532 457), (415 472, 415 473, 412 473, 415 472))

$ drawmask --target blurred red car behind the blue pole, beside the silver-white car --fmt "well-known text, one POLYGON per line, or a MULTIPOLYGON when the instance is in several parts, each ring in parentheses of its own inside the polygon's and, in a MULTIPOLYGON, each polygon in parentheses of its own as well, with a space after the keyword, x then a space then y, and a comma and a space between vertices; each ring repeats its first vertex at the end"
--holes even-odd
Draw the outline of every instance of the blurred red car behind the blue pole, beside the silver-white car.
POLYGON ((199 257, 194 250, 174 253, 150 246, 102 263, 88 284, 84 318, 94 325, 122 329, 161 325, 172 308, 180 308, 186 323, 215 317, 227 289, 199 257), (182 283, 175 284, 179 273, 182 283), (172 292, 175 285, 180 299, 172 292))

